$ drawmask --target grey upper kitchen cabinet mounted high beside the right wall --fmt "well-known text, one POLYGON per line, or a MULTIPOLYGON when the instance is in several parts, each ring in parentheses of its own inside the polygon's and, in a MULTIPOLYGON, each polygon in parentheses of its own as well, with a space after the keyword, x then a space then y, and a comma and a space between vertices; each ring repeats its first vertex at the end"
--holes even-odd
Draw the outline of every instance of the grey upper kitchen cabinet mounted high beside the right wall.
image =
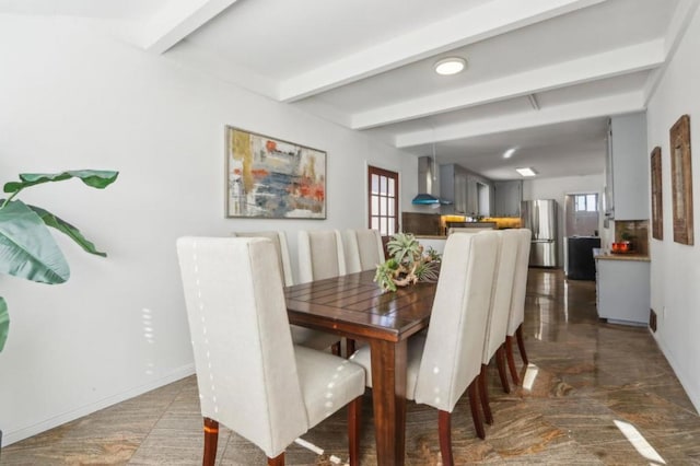
POLYGON ((646 114, 610 118, 605 164, 605 215, 610 220, 649 219, 646 114))

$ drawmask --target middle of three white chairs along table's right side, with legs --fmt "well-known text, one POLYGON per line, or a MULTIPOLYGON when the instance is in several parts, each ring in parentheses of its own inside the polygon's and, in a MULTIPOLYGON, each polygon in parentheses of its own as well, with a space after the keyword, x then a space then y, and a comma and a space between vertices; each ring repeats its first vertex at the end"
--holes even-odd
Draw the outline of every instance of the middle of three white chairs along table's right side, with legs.
POLYGON ((502 230, 483 232, 479 234, 493 234, 499 237, 499 253, 494 272, 493 291, 491 294, 491 308, 487 322, 486 340, 483 342, 483 358, 481 360, 481 373, 479 374, 479 388, 483 417, 488 423, 493 423, 493 415, 489 405, 488 366, 495 354, 501 385, 505 393, 510 393, 508 374, 505 369, 505 335, 508 319, 511 313, 511 294, 513 278, 515 276, 515 261, 521 234, 517 230, 502 230))

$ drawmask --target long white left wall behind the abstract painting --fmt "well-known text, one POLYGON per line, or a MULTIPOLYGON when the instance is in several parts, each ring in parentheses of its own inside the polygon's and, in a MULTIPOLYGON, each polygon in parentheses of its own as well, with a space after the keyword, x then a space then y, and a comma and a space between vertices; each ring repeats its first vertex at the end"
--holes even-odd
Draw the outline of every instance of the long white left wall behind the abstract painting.
POLYGON ((21 196, 109 256, 60 236, 68 283, 0 277, 11 317, 0 353, 5 444, 192 372, 176 237, 284 230, 295 255, 300 229, 365 225, 368 163, 401 174, 404 207, 417 189, 413 156, 84 23, 0 15, 0 61, 2 183, 21 172, 120 172, 104 191, 70 180, 21 196), (224 219, 224 125, 326 150, 328 219, 224 219))

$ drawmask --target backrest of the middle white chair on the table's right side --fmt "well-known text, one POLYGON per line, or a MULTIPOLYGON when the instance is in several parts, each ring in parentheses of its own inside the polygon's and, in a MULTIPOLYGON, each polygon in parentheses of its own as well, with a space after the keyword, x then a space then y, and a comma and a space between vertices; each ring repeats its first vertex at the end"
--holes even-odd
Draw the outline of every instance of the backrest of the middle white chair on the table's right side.
MULTIPOLYGON (((480 233, 491 234, 491 233, 480 233)), ((511 313, 511 294, 515 276, 515 261, 521 234, 517 230, 502 230, 494 233, 499 237, 499 252, 494 271, 491 310, 487 322, 482 363, 488 364, 495 351, 505 341, 508 321, 511 313)))

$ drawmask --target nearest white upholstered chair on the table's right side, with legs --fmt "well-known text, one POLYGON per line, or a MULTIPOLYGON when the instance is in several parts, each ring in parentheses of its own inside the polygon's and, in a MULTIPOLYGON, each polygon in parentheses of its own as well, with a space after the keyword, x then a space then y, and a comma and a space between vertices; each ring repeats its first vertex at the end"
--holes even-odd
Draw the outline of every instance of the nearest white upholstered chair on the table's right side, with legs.
MULTIPOLYGON (((439 410, 438 430, 443 465, 452 457, 451 413, 468 391, 477 434, 483 439, 477 377, 491 302, 498 237, 453 234, 447 237, 427 336, 408 340, 406 397, 439 410)), ((351 361, 366 369, 372 385, 370 348, 351 361)))

